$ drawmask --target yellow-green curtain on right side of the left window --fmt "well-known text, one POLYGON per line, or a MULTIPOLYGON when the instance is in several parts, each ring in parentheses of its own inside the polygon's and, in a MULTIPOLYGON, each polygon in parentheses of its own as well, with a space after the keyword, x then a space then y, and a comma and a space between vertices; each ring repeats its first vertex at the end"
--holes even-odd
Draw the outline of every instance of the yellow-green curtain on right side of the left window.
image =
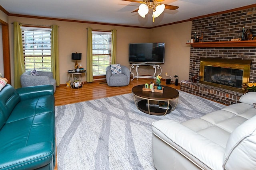
POLYGON ((52 72, 56 86, 60 86, 58 25, 52 25, 52 72))

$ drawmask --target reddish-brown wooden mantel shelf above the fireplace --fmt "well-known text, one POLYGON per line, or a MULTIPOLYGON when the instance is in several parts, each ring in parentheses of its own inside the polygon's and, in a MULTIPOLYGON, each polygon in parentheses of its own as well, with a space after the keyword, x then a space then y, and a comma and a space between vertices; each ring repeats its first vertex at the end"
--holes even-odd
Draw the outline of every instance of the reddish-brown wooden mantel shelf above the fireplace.
POLYGON ((186 43, 194 48, 200 47, 256 47, 256 41, 217 41, 217 42, 201 42, 201 43, 186 43))

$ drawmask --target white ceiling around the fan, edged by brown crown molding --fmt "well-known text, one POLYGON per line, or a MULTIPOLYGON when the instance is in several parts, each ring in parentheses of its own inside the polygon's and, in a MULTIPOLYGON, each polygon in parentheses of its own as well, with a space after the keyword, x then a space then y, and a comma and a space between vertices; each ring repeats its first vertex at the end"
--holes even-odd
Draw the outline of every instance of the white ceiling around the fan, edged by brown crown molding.
POLYGON ((155 18, 153 23, 152 9, 145 18, 140 17, 138 12, 131 13, 140 5, 136 2, 122 0, 0 0, 0 5, 10 14, 139 27, 155 27, 188 20, 206 14, 256 4, 256 0, 164 0, 162 3, 180 8, 174 11, 165 9, 158 18, 155 18))

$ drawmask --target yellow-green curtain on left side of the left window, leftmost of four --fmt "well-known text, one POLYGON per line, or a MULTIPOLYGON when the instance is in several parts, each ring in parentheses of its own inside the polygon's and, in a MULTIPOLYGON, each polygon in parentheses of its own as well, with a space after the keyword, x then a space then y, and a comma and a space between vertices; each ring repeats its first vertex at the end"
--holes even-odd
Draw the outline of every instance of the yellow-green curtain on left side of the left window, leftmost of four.
POLYGON ((20 88, 20 76, 24 69, 24 55, 22 47, 22 34, 20 27, 22 26, 18 22, 14 22, 14 88, 20 88))

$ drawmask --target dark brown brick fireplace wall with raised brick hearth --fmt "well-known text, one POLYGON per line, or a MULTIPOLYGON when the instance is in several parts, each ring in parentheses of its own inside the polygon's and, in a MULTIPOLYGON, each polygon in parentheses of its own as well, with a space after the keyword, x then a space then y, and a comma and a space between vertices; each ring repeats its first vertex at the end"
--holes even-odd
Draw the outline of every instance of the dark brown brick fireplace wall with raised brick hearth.
MULTIPOLYGON (((240 38, 242 29, 251 29, 256 36, 256 7, 241 9, 192 20, 191 37, 195 32, 200 37, 204 33, 204 42, 230 41, 240 38)), ((256 47, 192 47, 190 49, 189 79, 200 76, 200 58, 250 60, 249 82, 256 82, 256 47)), ((242 92, 227 90, 207 84, 181 83, 181 90, 215 100, 226 105, 239 101, 242 92)))

